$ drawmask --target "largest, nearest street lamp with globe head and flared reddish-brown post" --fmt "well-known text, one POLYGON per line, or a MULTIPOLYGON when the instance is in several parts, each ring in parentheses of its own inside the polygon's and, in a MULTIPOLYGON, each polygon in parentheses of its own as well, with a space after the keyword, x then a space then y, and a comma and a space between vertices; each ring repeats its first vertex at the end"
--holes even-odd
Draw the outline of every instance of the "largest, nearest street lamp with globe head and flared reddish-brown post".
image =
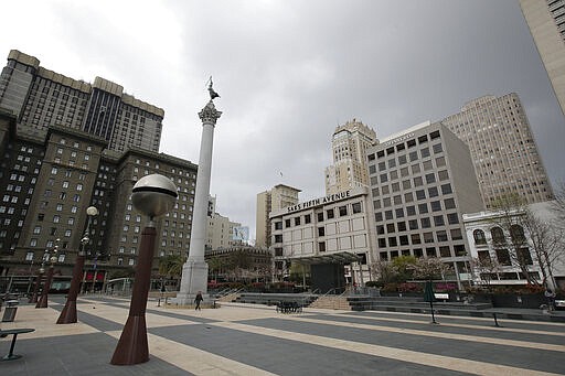
POLYGON ((153 219, 169 212, 178 196, 174 183, 159 174, 141 178, 131 192, 134 206, 149 217, 149 223, 141 233, 129 316, 110 361, 114 365, 134 365, 149 361, 146 307, 157 238, 153 219))

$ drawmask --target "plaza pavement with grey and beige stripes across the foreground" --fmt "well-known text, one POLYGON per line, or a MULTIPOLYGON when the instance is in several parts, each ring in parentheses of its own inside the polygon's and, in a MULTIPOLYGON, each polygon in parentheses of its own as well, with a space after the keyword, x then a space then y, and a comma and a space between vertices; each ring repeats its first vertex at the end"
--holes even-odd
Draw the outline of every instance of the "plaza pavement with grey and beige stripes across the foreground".
MULTIPOLYGON (((222 303, 218 309, 147 305, 150 359, 109 364, 129 300, 79 297, 78 323, 56 325, 47 309, 21 304, 15 354, 0 375, 552 375, 565 374, 565 324, 426 314, 222 303)), ((11 335, 0 341, 8 353, 11 335)))

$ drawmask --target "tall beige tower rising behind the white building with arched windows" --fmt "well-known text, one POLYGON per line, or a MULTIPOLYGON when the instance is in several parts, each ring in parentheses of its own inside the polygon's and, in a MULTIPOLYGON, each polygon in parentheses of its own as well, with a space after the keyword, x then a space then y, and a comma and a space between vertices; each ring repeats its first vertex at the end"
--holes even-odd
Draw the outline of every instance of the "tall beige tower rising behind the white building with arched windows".
POLYGON ((508 194, 519 194, 527 204, 553 198, 530 122, 516 94, 471 100, 441 123, 469 147, 486 207, 508 194))

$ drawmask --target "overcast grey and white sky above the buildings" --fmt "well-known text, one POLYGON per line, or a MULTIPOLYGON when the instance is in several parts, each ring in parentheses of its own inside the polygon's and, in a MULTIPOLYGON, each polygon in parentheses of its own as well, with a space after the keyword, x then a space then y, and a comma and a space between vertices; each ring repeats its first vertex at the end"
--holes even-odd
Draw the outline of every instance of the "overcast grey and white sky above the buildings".
MULTIPOLYGON (((164 109, 161 152, 198 163, 198 112, 214 77, 223 111, 211 193, 255 234, 256 195, 282 183, 324 195, 335 126, 379 138, 515 92, 552 182, 565 121, 518 1, 8 1, 0 54, 96 76, 164 109)), ((6 63, 1 64, 1 66, 6 63)))

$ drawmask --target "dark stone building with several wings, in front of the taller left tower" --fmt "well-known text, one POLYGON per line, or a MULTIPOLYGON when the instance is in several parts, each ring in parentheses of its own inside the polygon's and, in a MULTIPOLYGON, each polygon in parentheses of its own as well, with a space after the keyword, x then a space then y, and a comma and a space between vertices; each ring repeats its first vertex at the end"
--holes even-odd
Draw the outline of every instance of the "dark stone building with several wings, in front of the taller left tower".
POLYGON ((195 164, 138 148, 108 150, 104 138, 68 127, 50 126, 43 138, 19 130, 17 118, 0 110, 0 273, 34 273, 45 249, 56 245, 55 272, 71 276, 92 205, 99 214, 85 246, 86 282, 96 275, 99 289, 115 272, 127 276, 147 224, 132 206, 131 189, 152 173, 170 178, 179 193, 174 207, 157 221, 153 268, 161 256, 186 255, 195 164))

